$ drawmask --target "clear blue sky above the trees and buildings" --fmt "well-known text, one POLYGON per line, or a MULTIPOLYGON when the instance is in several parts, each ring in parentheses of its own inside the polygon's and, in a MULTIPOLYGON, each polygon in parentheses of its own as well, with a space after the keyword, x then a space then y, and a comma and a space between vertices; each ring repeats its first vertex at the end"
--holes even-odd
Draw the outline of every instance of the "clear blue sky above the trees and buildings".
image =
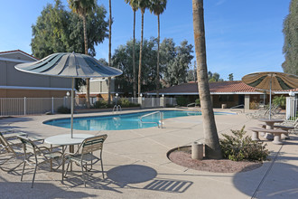
MULTIPOLYGON (((32 25, 42 9, 53 3, 54 0, 0 0, 0 52, 19 49, 31 54, 32 25)), ((66 0, 62 4, 69 9, 66 0)), ((205 0, 208 71, 218 72, 225 81, 230 73, 234 81, 239 81, 256 71, 283 71, 283 22, 289 14, 289 4, 290 0, 205 0)), ((108 0, 98 0, 98 5, 108 11, 108 0)), ((194 46, 191 6, 191 0, 168 0, 160 17, 161 41, 172 38, 180 45, 187 40, 194 46)), ((112 0, 112 14, 113 54, 133 37, 133 11, 124 0, 112 0)), ((140 40, 140 11, 136 13, 135 36, 140 40)), ((157 37, 157 17, 146 10, 144 38, 150 37, 157 37)), ((96 52, 97 59, 107 60, 108 38, 96 47, 96 52)))

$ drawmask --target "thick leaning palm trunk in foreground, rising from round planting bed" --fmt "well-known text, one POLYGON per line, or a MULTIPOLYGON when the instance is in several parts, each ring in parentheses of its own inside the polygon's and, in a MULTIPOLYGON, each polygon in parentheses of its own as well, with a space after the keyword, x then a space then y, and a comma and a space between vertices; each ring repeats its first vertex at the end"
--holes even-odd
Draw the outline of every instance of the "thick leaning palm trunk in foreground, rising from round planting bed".
POLYGON ((222 157, 219 147, 219 135, 217 132, 212 103, 210 99, 210 88, 207 75, 206 43, 204 27, 203 0, 192 0, 192 18, 194 43, 197 57, 197 75, 200 94, 200 108, 203 118, 205 136, 205 153, 210 158, 222 157))

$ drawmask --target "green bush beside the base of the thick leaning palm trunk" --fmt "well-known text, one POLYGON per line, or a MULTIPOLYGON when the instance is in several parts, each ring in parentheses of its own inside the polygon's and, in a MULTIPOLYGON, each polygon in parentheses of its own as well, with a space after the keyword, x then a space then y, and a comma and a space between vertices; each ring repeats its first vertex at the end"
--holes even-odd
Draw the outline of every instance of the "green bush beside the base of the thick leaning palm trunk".
POLYGON ((244 130, 231 130, 233 136, 223 134, 224 139, 219 139, 222 154, 225 158, 233 161, 264 161, 269 152, 265 149, 266 144, 253 141, 251 137, 244 137, 247 133, 244 130))

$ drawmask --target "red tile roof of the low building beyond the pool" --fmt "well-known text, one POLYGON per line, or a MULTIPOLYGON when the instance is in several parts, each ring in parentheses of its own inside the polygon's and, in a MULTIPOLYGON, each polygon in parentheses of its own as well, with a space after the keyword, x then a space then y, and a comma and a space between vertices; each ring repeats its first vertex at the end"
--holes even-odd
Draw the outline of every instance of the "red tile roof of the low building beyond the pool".
MULTIPOLYGON (((257 90, 254 87, 248 86, 243 81, 218 81, 210 82, 210 93, 211 94, 259 94, 262 90, 257 90)), ((275 91, 275 93, 286 93, 290 90, 275 91)), ((295 89, 293 91, 298 91, 295 89)), ((154 91, 147 92, 147 94, 155 94, 154 91)), ((194 95, 198 94, 198 82, 183 83, 181 85, 172 86, 159 90, 160 94, 168 95, 194 95)))

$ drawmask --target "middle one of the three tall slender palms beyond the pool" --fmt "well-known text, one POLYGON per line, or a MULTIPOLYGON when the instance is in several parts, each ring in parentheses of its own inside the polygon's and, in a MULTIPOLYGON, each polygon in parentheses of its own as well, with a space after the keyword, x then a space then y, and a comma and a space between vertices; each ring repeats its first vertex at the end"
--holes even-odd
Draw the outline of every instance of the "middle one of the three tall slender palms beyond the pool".
POLYGON ((144 11, 150 7, 150 0, 138 0, 138 7, 142 13, 142 31, 141 31, 141 43, 140 43, 140 57, 139 57, 139 74, 137 83, 138 96, 141 95, 141 74, 142 74, 142 50, 143 50, 143 37, 144 37, 144 11))

